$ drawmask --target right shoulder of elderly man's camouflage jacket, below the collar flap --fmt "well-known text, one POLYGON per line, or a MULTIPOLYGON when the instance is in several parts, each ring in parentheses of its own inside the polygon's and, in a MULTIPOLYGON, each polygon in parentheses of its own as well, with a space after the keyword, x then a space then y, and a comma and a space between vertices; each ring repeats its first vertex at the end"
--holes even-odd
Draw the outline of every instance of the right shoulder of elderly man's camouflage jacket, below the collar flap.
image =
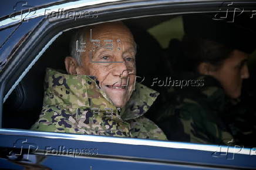
POLYGON ((153 121, 144 116, 130 120, 130 128, 133 138, 167 140, 164 132, 155 123, 153 123, 153 121))

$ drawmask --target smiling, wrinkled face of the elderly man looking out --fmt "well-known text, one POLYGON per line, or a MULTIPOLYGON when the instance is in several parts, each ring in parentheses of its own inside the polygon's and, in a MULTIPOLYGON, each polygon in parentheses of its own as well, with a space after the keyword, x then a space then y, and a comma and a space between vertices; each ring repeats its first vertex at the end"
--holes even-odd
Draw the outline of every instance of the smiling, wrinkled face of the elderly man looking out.
POLYGON ((92 39, 100 43, 97 46, 97 42, 87 41, 86 52, 82 55, 82 73, 96 76, 100 88, 114 106, 124 107, 132 95, 136 79, 133 36, 123 25, 108 24, 92 29, 92 39))

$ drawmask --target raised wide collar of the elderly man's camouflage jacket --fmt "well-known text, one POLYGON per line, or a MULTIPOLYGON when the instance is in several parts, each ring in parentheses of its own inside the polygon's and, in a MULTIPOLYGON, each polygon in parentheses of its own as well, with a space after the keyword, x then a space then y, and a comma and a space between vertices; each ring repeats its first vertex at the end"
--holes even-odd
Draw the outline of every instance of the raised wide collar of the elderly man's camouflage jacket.
MULTIPOLYGON (((122 120, 130 120, 140 117, 153 104, 159 93, 148 87, 136 83, 135 90, 122 108, 122 120)), ((99 89, 96 77, 87 75, 70 75, 58 72, 54 69, 46 69, 45 76, 45 105, 65 105, 65 107, 87 107, 99 108, 103 111, 106 108, 119 114, 112 101, 107 98, 106 93, 99 89)))

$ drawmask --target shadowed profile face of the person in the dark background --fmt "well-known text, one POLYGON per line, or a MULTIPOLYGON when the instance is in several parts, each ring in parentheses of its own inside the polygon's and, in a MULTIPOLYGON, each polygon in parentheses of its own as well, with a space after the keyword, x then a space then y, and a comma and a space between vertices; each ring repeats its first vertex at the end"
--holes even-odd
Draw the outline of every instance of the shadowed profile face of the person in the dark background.
POLYGON ((241 94, 242 80, 250 76, 247 67, 247 54, 234 50, 228 59, 213 76, 220 81, 225 93, 231 98, 238 98, 241 94))

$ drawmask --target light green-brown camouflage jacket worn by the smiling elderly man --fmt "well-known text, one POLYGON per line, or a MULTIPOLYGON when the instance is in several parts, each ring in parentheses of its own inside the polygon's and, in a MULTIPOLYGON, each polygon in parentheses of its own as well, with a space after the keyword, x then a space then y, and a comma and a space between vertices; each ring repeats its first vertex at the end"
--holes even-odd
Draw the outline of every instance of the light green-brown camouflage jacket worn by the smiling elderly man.
POLYGON ((99 89, 96 77, 46 69, 43 108, 31 129, 166 140, 163 131, 143 116, 158 95, 137 83, 120 111, 99 89))

